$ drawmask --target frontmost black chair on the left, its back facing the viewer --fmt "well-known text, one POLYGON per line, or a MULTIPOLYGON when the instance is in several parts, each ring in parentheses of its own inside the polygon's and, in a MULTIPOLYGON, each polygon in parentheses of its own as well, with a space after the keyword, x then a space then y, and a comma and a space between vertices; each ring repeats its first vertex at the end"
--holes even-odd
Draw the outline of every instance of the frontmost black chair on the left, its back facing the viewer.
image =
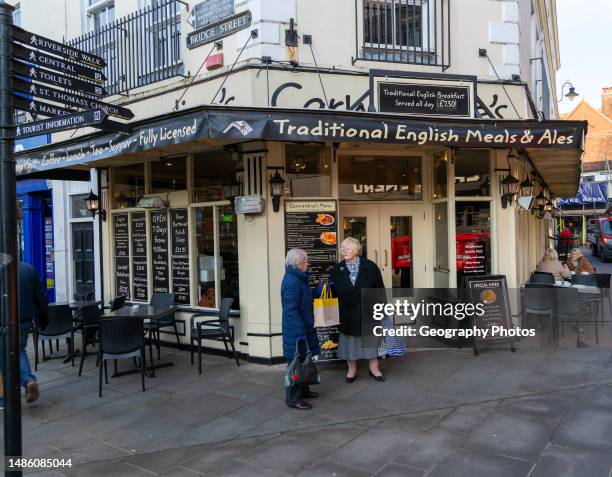
POLYGON ((104 379, 108 384, 106 362, 109 360, 138 358, 142 390, 145 390, 144 376, 146 370, 145 339, 142 320, 138 318, 103 318, 100 320, 98 359, 98 396, 102 397, 102 368, 104 379))

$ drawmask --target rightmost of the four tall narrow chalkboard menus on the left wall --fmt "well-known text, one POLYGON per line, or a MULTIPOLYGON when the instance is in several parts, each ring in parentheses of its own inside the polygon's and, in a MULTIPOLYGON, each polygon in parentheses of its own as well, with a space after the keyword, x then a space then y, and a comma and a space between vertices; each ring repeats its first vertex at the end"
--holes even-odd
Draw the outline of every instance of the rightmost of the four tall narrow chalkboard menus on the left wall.
POLYGON ((174 302, 189 305, 189 234, 187 209, 172 209, 172 292, 174 302))

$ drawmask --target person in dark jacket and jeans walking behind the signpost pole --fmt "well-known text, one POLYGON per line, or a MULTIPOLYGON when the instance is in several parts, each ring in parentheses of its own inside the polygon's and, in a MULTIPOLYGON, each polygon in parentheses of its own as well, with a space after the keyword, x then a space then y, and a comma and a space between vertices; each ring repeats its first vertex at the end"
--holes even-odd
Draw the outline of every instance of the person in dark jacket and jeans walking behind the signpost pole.
MULTIPOLYGON (((38 271, 30 264, 19 262, 19 371, 27 402, 36 401, 39 395, 36 376, 32 374, 26 352, 28 335, 32 332, 35 321, 40 330, 44 330, 49 324, 47 292, 38 271)), ((0 369, 4 376, 4 352, 0 352, 0 369)), ((0 402, 4 405, 4 402, 0 402)))

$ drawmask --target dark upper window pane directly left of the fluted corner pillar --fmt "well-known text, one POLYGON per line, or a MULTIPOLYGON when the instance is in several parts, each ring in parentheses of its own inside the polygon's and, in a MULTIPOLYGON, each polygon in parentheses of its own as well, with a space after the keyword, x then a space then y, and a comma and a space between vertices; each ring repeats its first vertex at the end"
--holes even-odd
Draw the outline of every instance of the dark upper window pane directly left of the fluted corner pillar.
POLYGON ((198 154, 193 159, 194 202, 225 200, 223 184, 236 180, 232 153, 214 151, 198 154))

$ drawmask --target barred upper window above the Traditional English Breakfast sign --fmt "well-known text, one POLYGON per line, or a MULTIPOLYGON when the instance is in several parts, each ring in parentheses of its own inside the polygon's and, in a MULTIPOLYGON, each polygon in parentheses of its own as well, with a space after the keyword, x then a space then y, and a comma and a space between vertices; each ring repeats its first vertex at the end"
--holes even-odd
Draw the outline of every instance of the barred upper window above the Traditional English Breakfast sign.
POLYGON ((355 0, 357 60, 450 66, 451 0, 355 0))

